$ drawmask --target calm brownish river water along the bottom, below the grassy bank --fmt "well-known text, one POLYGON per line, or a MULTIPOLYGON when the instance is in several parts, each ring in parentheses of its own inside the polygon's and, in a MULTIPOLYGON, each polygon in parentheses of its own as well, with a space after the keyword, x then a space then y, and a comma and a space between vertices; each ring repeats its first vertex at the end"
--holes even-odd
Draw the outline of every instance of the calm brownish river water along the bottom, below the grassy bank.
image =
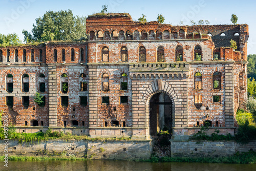
POLYGON ((190 170, 225 170, 241 171, 256 170, 256 164, 216 164, 216 163, 148 163, 135 161, 9 161, 8 167, 4 162, 0 170, 22 170, 22 171, 77 171, 77 170, 168 170, 168 171, 190 171, 190 170))

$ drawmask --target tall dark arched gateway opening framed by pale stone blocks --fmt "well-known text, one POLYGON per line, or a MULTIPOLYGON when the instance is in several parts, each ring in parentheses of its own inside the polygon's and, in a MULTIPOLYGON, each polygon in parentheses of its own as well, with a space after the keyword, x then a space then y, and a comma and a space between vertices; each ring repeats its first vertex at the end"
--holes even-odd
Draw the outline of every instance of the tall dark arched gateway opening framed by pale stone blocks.
POLYGON ((150 99, 150 135, 157 136, 161 131, 172 133, 173 103, 169 95, 160 92, 150 99))

